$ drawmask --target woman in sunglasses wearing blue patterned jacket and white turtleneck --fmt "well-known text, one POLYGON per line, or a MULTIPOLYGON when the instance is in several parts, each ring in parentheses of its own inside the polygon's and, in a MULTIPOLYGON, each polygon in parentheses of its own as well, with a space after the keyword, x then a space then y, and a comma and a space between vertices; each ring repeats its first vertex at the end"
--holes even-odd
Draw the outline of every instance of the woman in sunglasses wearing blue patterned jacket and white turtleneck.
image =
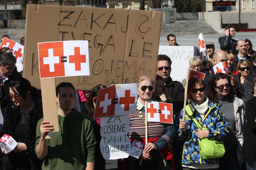
POLYGON ((185 120, 182 120, 183 109, 176 119, 177 140, 185 142, 182 151, 183 170, 208 169, 218 170, 218 159, 204 160, 199 149, 199 139, 210 138, 213 140, 223 140, 228 133, 228 124, 220 108, 214 105, 205 96, 205 82, 198 78, 192 78, 188 83, 188 94, 191 98, 189 108, 186 108, 185 120), (208 130, 199 130, 191 116, 187 112, 192 112, 192 116, 208 130))

